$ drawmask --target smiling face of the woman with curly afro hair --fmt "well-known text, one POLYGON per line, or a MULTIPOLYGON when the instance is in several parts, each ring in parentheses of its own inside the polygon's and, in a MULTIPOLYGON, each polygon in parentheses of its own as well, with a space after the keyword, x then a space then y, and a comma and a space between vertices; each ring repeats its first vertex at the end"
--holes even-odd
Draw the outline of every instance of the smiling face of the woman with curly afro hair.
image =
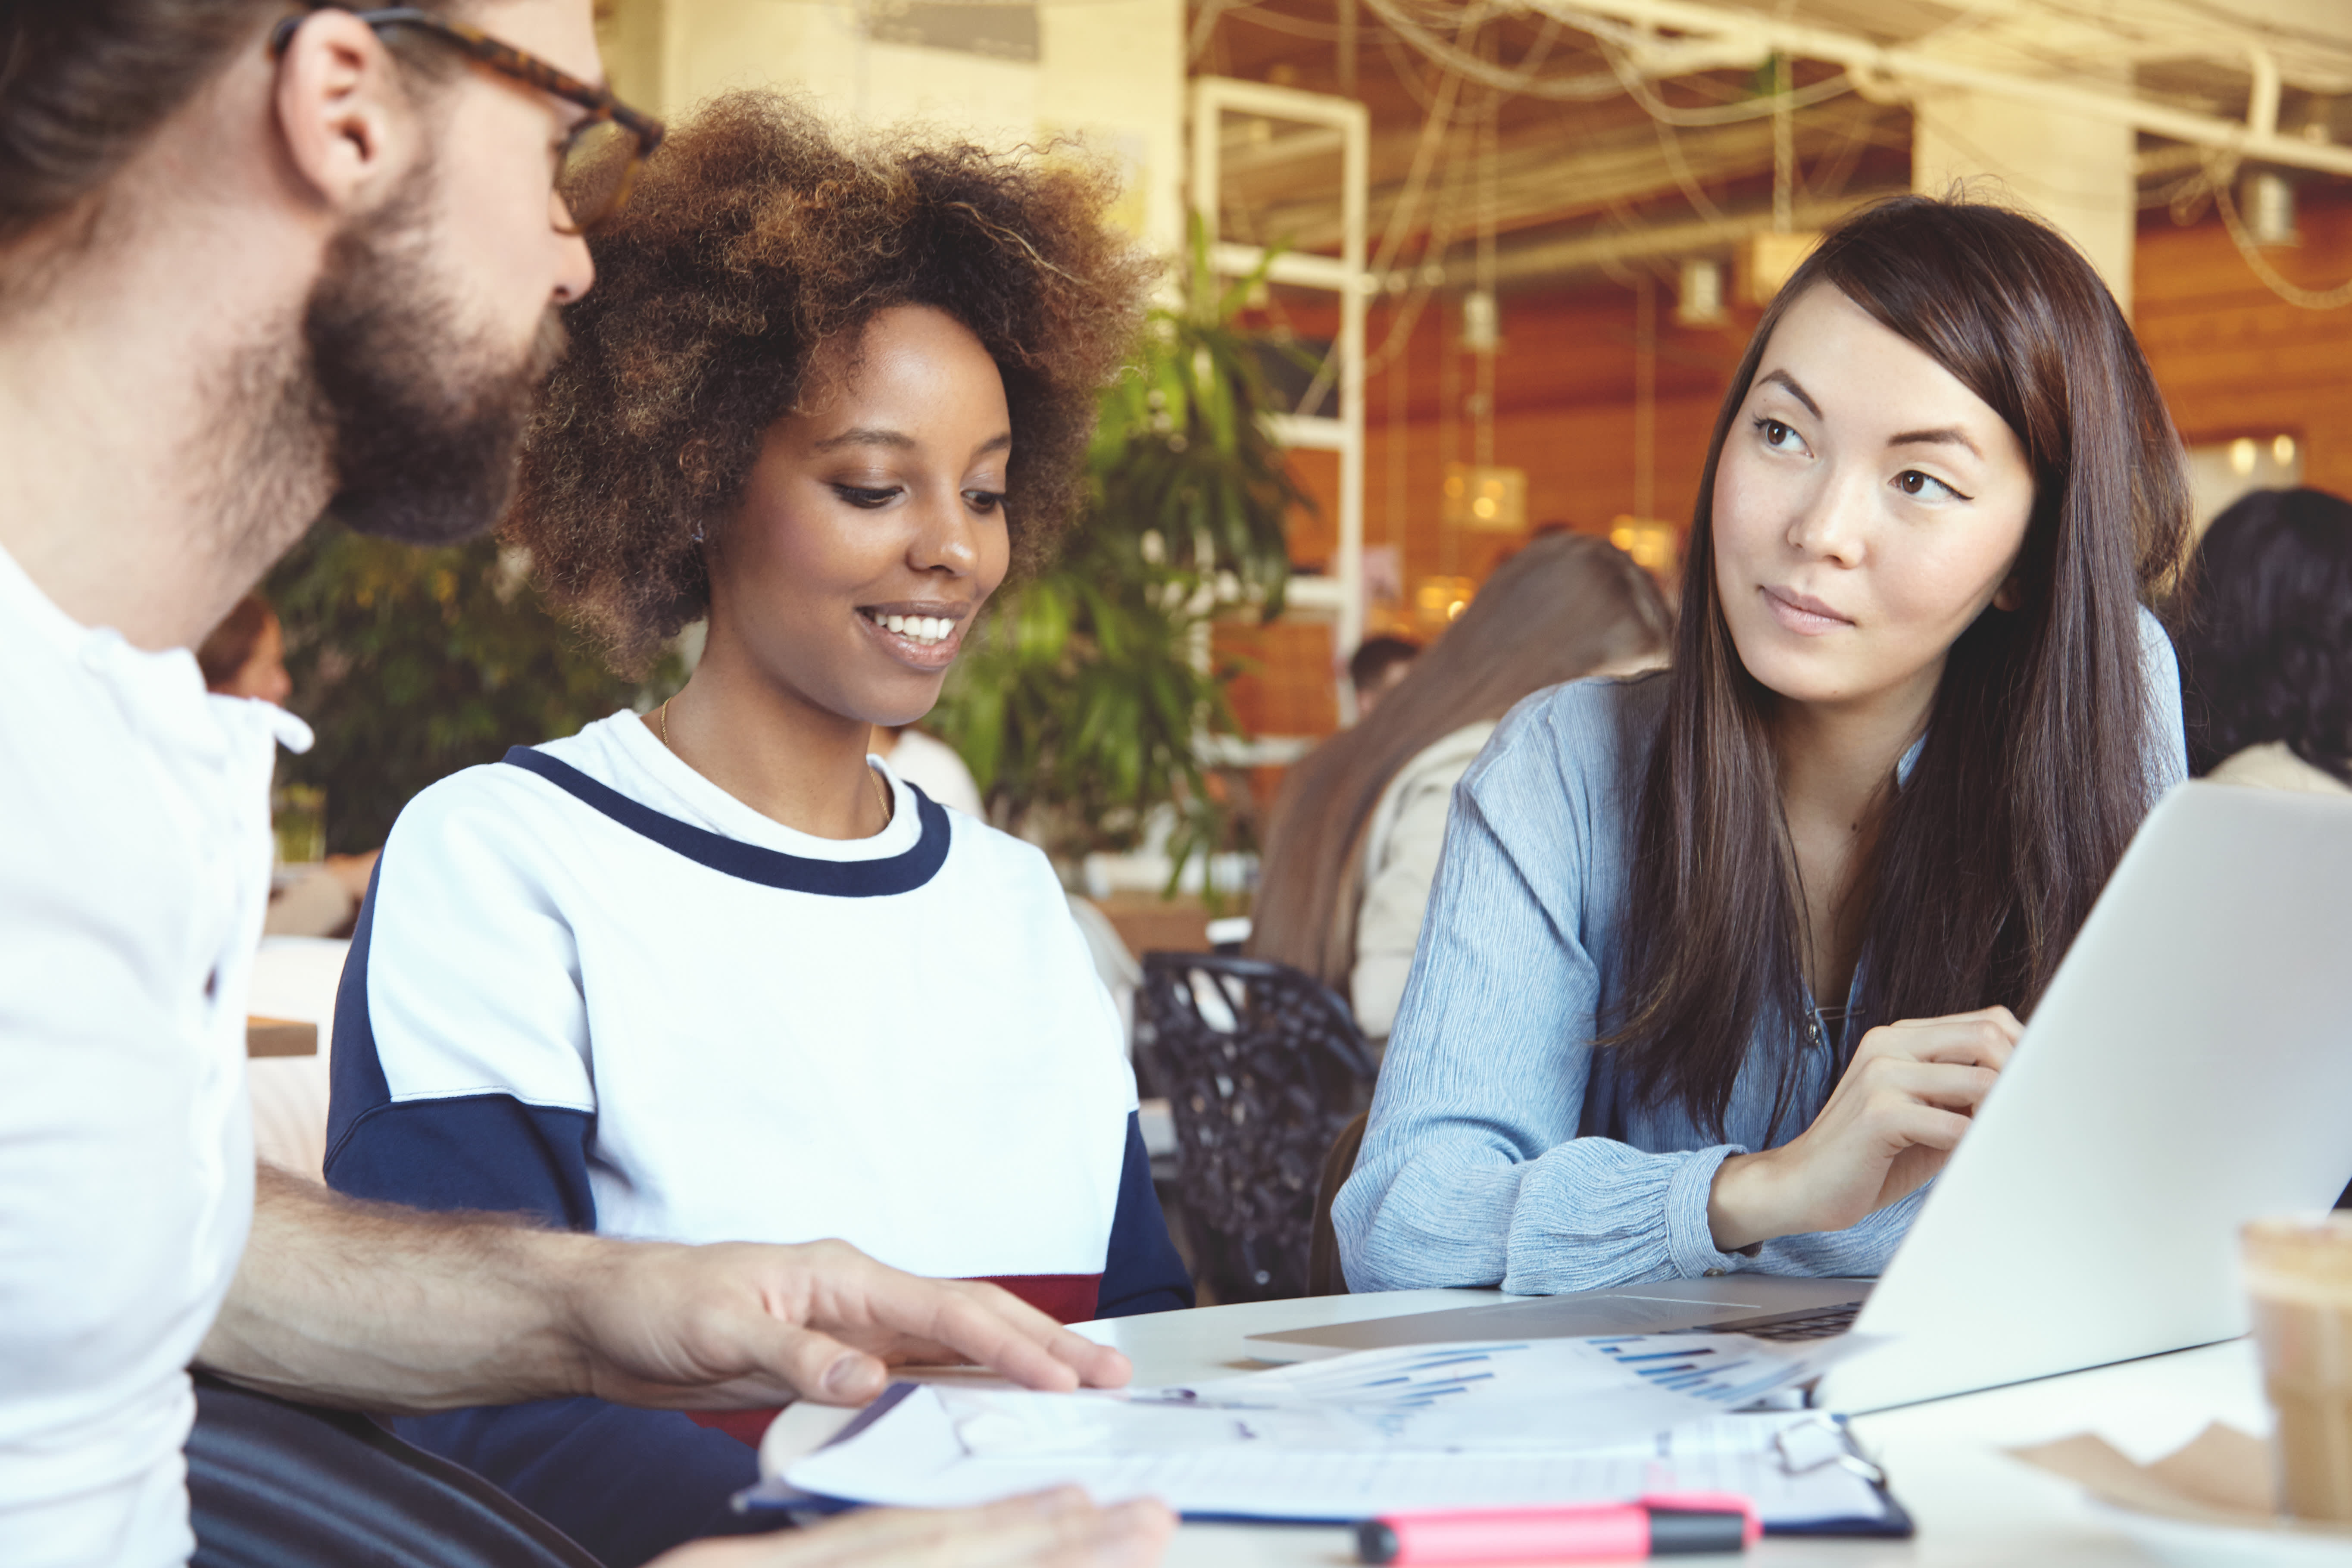
POLYGON ((1004 378, 955 317, 894 306, 809 388, 710 545, 710 635, 814 708, 913 724, 1011 559, 1004 378))

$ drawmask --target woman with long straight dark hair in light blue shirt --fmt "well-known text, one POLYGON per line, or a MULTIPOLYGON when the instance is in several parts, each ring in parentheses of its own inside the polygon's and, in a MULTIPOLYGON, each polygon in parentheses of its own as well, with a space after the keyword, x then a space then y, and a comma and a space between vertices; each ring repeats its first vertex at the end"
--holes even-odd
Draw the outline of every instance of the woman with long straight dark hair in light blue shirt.
POLYGON ((1524 703, 1456 790, 1348 1284, 1879 1272, 2183 773, 2185 529, 2063 237, 1828 235, 1708 444, 1672 670, 1524 703))

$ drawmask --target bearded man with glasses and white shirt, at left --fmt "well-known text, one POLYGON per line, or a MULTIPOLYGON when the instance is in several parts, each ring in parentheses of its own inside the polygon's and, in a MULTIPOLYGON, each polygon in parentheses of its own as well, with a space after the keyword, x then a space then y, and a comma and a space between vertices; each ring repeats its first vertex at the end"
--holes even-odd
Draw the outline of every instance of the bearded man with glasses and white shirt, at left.
MULTIPOLYGON (((0 5, 16 1568, 191 1556, 191 1361, 367 1410, 858 1403, 891 1356, 1033 1387, 1127 1378, 1000 1291, 837 1244, 619 1244, 343 1204, 270 1171, 256 1192, 242 1039, 266 783, 273 748, 308 736, 207 698, 186 649, 322 510, 419 543, 496 517, 555 308, 593 282, 579 230, 659 141, 595 78, 588 0, 0 5)), ((960 1561, 1150 1561, 1167 1530, 1152 1507, 1051 1497, 670 1561, 934 1561, 950 1540, 960 1561)), ((437 1561, 419 1552, 402 1561, 437 1561)), ((242 1559, 207 1542, 202 1561, 242 1559)))

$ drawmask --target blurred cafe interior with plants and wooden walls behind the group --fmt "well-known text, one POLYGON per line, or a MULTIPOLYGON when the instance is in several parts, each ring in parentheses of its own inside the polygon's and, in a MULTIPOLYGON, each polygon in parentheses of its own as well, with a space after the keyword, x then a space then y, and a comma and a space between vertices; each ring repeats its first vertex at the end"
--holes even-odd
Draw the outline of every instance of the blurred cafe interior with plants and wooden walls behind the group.
MULTIPOLYGON (((1134 952, 1247 914, 1345 658, 1439 635, 1536 531, 1672 583, 1724 383, 1828 223, 1964 179, 2072 235, 2190 449, 2199 522, 2352 494, 2343 0, 600 0, 614 87, 1110 160, 1167 256, 1096 508, 927 729, 1134 952)), ((322 522, 270 581, 327 849, 433 778, 673 691, 607 672, 494 541, 322 522)), ((1543 635, 1529 628, 1529 635, 1543 635)))

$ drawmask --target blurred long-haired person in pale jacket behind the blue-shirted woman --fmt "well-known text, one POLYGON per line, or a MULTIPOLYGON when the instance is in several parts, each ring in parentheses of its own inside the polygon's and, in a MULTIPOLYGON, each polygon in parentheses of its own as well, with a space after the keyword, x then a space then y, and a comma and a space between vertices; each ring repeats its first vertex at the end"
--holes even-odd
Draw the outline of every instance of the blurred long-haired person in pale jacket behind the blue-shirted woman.
POLYGON ((1512 555, 1411 661, 1409 682, 1291 769, 1249 952, 1343 990, 1357 1027, 1383 1041, 1414 966, 1454 780, 1519 698, 1663 665, 1670 637, 1658 585, 1609 541, 1550 534, 1512 555))

